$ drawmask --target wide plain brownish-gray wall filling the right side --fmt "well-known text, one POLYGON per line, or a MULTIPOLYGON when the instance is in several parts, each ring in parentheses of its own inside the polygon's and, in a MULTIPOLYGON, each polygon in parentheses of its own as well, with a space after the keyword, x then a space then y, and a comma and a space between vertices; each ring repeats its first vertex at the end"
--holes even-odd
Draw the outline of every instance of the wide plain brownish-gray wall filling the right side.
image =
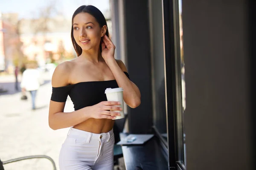
POLYGON ((187 170, 249 170, 246 0, 183 0, 187 170))

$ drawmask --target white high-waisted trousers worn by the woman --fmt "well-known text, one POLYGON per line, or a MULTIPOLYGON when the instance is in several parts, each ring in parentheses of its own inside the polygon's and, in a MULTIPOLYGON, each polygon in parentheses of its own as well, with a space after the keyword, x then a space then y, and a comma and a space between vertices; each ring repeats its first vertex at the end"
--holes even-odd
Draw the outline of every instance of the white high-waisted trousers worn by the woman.
POLYGON ((60 170, 113 170, 113 129, 108 133, 90 133, 70 128, 62 144, 60 170))

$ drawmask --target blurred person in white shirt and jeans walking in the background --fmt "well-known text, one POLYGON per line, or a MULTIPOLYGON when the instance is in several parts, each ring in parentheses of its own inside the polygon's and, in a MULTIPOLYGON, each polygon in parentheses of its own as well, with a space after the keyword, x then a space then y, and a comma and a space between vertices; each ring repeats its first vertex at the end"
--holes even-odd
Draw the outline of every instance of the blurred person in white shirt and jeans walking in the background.
POLYGON ((37 64, 27 64, 27 69, 23 72, 20 88, 29 91, 32 98, 32 110, 35 110, 35 96, 40 87, 40 71, 36 69, 37 64))

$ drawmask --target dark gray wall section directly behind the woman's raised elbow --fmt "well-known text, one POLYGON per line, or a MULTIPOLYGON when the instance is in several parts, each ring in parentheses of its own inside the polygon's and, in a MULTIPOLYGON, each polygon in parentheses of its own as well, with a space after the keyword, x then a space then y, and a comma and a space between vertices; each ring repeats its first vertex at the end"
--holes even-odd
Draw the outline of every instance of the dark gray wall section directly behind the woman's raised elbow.
POLYGON ((140 88, 141 105, 128 108, 129 131, 149 133, 152 126, 151 64, 148 0, 124 0, 126 65, 140 88))

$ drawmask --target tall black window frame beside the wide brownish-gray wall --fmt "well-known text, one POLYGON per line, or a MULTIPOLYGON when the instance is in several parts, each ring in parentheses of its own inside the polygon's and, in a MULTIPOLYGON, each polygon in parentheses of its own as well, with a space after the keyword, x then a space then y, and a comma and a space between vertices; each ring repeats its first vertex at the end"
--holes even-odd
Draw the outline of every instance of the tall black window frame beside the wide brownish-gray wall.
POLYGON ((162 0, 162 5, 169 167, 185 170, 185 162, 181 161, 184 160, 184 144, 179 4, 178 0, 162 0))

